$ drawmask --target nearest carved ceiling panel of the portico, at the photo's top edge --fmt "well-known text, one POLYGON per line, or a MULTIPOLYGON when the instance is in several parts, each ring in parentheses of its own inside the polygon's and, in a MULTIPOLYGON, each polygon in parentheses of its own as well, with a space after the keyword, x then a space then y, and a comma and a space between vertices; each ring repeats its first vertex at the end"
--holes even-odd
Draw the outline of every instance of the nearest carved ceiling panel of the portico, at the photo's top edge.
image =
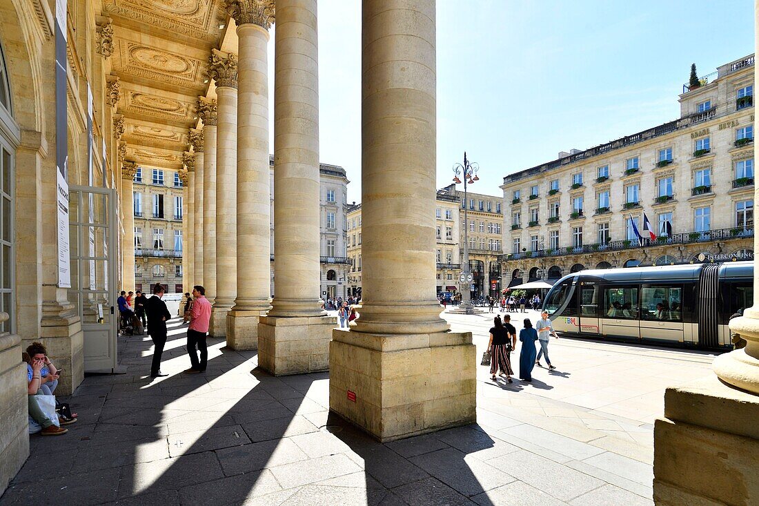
POLYGON ((109 14, 216 42, 225 13, 215 0, 106 0, 109 14), (224 14, 224 16, 219 16, 224 14))

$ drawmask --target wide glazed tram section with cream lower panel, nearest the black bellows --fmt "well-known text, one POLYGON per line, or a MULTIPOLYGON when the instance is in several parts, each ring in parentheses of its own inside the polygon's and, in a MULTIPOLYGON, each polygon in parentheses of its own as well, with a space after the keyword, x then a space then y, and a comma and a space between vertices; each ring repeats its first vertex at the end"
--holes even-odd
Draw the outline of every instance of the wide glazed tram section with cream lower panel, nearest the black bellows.
POLYGON ((682 285, 641 286, 641 339, 682 343, 682 285))

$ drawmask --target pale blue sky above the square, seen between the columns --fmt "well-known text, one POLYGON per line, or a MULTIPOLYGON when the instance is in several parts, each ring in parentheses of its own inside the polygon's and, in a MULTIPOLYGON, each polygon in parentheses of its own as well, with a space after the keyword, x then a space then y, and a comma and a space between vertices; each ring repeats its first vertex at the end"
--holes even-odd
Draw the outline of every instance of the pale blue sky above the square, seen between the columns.
MULTIPOLYGON (((361 2, 319 9, 320 157, 361 201, 361 2)), ((438 0, 438 187, 465 150, 472 191, 501 195, 510 172, 678 118, 691 63, 702 76, 754 52, 753 14, 751 0, 438 0)))

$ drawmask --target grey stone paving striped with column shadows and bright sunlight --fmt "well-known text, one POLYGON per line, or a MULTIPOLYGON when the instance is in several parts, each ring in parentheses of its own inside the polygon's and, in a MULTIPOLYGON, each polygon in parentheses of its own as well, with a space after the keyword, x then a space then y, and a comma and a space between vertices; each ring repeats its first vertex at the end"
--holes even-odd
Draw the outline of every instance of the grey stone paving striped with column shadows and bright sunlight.
MULTIPOLYGON (((487 345, 490 315, 446 318, 487 345)), ((327 373, 273 378, 209 340, 206 374, 184 375, 169 333, 156 381, 150 338, 120 338, 126 374, 85 379, 68 434, 30 436, 0 505, 653 504, 663 388, 711 374, 704 353, 559 340, 532 384, 478 368, 477 425, 379 444, 329 414, 327 373)))

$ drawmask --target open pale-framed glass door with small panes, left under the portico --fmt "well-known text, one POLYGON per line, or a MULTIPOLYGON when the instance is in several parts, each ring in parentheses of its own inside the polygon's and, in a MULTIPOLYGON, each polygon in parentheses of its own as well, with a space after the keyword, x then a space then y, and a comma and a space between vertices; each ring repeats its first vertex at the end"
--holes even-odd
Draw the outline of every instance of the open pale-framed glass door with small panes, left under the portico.
POLYGON ((84 334, 84 371, 112 371, 116 349, 115 191, 69 188, 71 288, 84 334))

